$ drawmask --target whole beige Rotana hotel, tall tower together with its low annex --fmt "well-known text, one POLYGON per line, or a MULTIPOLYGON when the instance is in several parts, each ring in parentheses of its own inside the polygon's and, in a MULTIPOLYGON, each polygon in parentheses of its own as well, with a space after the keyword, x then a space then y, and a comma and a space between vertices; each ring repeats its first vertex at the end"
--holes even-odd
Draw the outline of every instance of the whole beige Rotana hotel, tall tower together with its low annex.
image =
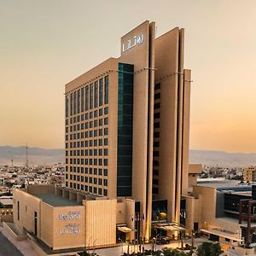
POLYGON ((147 20, 121 38, 120 49, 66 84, 66 188, 15 189, 15 224, 53 250, 201 227, 207 193, 195 188, 201 166, 189 166, 184 30, 155 37, 147 20))

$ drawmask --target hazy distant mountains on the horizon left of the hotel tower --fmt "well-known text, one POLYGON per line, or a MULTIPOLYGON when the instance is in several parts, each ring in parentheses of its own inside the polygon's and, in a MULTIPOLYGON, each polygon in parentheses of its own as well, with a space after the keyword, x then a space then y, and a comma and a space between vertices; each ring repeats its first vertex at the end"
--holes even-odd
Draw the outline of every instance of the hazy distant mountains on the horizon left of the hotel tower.
MULTIPOLYGON (((27 148, 29 165, 48 165, 65 161, 64 149, 27 148)), ((0 165, 24 166, 26 163, 26 147, 0 146, 0 165)))

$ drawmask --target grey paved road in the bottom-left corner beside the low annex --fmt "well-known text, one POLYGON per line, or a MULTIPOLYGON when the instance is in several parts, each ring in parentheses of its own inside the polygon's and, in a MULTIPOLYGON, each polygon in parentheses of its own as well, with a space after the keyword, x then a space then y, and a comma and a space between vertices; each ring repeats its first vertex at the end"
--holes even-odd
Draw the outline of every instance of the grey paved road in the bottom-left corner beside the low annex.
POLYGON ((33 248, 31 247, 29 241, 16 241, 12 236, 9 235, 3 227, 0 227, 0 236, 3 237, 3 241, 0 239, 0 256, 38 256, 33 248), (14 252, 18 252, 19 254, 2 252, 2 245, 7 244, 9 248, 14 248, 14 252))

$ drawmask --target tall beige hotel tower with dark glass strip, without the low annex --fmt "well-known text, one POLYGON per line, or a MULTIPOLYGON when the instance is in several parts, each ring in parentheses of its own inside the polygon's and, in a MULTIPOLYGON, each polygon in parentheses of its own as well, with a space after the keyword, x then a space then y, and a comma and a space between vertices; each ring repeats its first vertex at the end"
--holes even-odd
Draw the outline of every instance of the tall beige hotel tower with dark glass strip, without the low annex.
POLYGON ((154 208, 180 223, 188 194, 190 71, 184 31, 143 22, 109 58, 66 84, 66 187, 135 201, 148 238, 154 208))

